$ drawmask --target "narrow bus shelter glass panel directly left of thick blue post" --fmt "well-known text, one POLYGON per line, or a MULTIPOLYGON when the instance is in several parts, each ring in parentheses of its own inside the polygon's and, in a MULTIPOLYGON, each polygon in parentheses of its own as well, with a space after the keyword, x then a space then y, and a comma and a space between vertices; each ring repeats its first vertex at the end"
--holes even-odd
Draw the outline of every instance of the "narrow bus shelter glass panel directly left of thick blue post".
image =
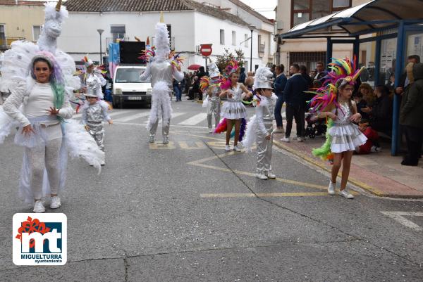
POLYGON ((379 84, 388 84, 395 74, 397 39, 384 39, 381 42, 381 69, 379 84))

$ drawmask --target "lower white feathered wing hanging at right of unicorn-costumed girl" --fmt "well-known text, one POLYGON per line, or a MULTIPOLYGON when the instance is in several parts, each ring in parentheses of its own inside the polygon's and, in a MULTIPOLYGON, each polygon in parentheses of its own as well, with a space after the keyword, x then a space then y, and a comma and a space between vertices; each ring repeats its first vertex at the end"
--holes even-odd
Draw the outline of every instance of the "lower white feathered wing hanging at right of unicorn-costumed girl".
POLYGON ((71 158, 82 158, 88 164, 102 171, 100 163, 104 161, 104 152, 99 149, 92 136, 76 120, 66 120, 66 146, 71 158))

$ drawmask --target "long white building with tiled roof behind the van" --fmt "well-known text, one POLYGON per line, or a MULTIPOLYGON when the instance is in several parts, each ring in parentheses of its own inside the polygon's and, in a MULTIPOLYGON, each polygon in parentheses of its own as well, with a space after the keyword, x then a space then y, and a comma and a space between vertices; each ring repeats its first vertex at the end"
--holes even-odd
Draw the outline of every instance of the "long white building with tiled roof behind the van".
MULTIPOLYGON (((108 6, 101 3, 104 1, 68 0, 65 3, 69 18, 63 24, 59 48, 75 60, 81 60, 86 55, 99 60, 100 37, 97 30, 104 30, 103 56, 107 44, 116 39, 152 39, 154 26, 160 19, 160 11, 163 11, 172 47, 185 58, 184 68, 194 63, 204 65, 204 58, 198 52, 200 44, 213 44, 212 60, 224 49, 241 49, 245 54, 245 68, 249 68, 250 44, 243 41, 250 37, 250 27, 237 15, 191 0, 133 0, 130 5, 128 1, 106 1, 108 6)), ((258 38, 259 32, 254 30, 253 38, 258 38)), ((264 65, 258 44, 252 45, 252 65, 264 65)))

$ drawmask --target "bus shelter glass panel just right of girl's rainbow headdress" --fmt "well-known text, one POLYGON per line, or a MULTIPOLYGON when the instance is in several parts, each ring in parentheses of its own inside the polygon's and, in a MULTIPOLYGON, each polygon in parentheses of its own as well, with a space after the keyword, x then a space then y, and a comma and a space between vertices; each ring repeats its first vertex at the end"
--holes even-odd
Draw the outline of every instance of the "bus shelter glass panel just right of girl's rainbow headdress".
POLYGON ((365 42, 360 44, 360 60, 358 63, 359 68, 362 66, 365 69, 360 75, 360 80, 362 83, 368 83, 370 86, 374 86, 374 70, 376 61, 376 42, 365 42))

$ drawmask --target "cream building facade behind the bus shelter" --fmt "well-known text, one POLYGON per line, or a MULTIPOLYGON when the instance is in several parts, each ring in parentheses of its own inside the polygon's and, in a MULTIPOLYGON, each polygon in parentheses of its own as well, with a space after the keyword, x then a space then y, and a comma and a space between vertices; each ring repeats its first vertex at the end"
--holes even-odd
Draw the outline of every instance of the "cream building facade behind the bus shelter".
MULTIPOLYGON (((276 32, 283 34, 295 25, 367 2, 367 0, 278 0, 276 32)), ((317 62, 326 61, 326 39, 286 39, 277 42, 276 50, 276 63, 286 66, 298 63, 306 65, 308 70, 314 70, 317 62)), ((352 54, 352 44, 333 46, 334 58, 351 57, 352 54)), ((371 53, 364 54, 369 55, 371 53)))

